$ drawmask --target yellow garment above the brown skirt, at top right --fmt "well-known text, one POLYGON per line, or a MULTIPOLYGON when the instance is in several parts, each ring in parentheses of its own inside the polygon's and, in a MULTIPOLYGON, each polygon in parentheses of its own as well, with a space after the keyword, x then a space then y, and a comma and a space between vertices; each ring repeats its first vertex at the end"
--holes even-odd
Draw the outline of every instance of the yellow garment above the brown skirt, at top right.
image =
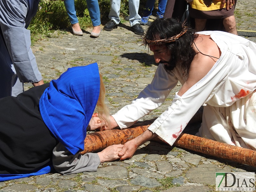
MULTIPOLYGON (((210 6, 206 6, 204 4, 203 0, 193 0, 189 2, 191 8, 199 10, 199 11, 213 11, 213 10, 218 10, 220 9, 220 0, 212 0, 212 4, 210 6)), ((224 7, 226 7, 226 3, 224 4, 224 7)))

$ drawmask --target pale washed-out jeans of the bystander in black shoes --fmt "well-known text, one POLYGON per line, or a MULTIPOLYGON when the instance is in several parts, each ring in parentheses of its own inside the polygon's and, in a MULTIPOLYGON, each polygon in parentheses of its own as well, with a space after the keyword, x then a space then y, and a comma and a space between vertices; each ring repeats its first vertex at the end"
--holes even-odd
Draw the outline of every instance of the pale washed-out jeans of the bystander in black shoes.
MULTIPOLYGON (((110 0, 110 12, 108 18, 113 20, 116 24, 120 23, 120 4, 121 0, 110 0)), ((129 21, 131 27, 137 23, 140 23, 141 17, 138 14, 140 0, 129 0, 129 21)))

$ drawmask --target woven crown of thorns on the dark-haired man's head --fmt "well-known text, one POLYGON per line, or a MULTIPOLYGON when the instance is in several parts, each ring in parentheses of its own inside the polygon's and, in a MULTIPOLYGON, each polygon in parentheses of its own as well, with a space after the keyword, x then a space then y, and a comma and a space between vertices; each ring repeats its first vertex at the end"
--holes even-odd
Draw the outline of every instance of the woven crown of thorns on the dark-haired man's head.
POLYGON ((146 39, 146 37, 142 37, 142 45, 146 46, 146 45, 161 45, 161 44, 166 44, 166 43, 171 43, 177 39, 179 39, 181 36, 183 36, 186 32, 187 32, 188 27, 185 26, 185 24, 182 24, 182 30, 178 35, 172 36, 172 37, 168 37, 165 39, 158 39, 158 40, 149 40, 146 39))

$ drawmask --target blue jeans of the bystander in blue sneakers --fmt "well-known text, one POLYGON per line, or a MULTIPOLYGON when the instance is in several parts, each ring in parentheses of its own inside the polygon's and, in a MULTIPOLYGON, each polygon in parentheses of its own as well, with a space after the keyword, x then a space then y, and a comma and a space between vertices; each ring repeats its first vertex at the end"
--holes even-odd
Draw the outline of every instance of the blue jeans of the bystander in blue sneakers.
MULTIPOLYGON (((152 15, 152 11, 154 9, 155 2, 156 2, 156 0, 147 0, 146 9, 143 13, 143 16, 152 15)), ((159 2, 158 2, 158 12, 156 12, 157 15, 164 15, 166 3, 167 3, 167 0, 159 0, 159 2)))

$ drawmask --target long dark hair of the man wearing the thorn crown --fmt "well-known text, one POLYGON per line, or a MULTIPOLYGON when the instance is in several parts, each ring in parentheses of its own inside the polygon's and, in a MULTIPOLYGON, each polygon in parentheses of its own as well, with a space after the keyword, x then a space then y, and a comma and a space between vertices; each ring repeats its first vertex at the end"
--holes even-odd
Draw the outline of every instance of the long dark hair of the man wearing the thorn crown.
MULTIPOLYGON (((149 26, 145 38, 152 41, 170 38, 180 34, 182 29, 182 23, 175 19, 156 19, 149 26)), ((188 28, 187 32, 179 39, 165 44, 172 54, 169 65, 165 65, 166 70, 171 71, 176 66, 179 66, 182 70, 183 76, 188 75, 190 64, 196 54, 193 50, 192 44, 197 36, 198 35, 195 34, 194 29, 188 28)))

